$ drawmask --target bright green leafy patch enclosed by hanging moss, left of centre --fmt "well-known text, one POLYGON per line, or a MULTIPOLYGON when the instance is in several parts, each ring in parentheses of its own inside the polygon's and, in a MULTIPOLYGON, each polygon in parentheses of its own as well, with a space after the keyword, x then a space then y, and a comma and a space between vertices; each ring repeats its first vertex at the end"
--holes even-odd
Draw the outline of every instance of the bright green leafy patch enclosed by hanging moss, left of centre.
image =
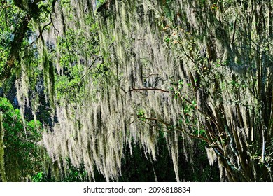
MULTIPOLYGON (((90 15, 85 17, 87 31, 67 29, 65 36, 57 38, 57 50, 51 53, 50 58, 59 59, 59 73, 55 76, 58 101, 65 99, 69 102, 76 102, 81 99, 86 75, 92 74, 90 69, 93 69, 94 64, 97 63, 90 62, 91 59, 96 59, 99 52, 97 22, 94 22, 90 15)), ((94 73, 99 74, 99 71, 94 73)))

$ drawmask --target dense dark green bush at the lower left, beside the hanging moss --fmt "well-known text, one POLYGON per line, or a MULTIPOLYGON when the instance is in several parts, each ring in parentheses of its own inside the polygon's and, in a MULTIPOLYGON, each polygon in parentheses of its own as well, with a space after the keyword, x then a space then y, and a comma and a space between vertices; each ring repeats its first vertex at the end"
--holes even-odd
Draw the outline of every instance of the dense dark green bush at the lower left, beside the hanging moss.
POLYGON ((34 120, 24 126, 20 111, 13 109, 8 99, 0 97, 3 116, 4 161, 8 181, 24 181, 42 167, 41 123, 34 120))

